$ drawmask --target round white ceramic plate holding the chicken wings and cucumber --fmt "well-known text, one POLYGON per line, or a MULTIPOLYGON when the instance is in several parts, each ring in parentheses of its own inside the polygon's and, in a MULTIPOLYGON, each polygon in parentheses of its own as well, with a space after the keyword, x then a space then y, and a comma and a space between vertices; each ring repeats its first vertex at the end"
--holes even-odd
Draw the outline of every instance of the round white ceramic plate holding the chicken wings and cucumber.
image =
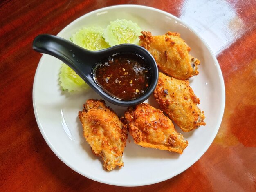
MULTIPOLYGON (((102 161, 95 157, 82 135, 78 112, 89 98, 100 99, 92 89, 84 92, 62 92, 58 85, 61 61, 43 55, 34 79, 33 104, 38 127, 53 152, 76 172, 95 181, 120 186, 149 185, 180 174, 193 165, 211 145, 216 136, 225 105, 225 88, 218 61, 206 43, 184 22, 169 13, 151 7, 121 5, 106 7, 88 13, 65 27, 58 36, 69 39, 83 27, 101 26, 110 21, 127 19, 136 22, 142 30, 161 35, 175 31, 191 47, 191 55, 201 61, 198 76, 190 85, 200 98, 200 109, 206 116, 206 126, 189 133, 178 132, 189 141, 182 155, 143 148, 128 137, 124 149, 124 167, 110 172, 103 170, 102 161)), ((154 98, 147 100, 157 107, 154 98)), ((126 107, 106 102, 119 116, 126 107)))

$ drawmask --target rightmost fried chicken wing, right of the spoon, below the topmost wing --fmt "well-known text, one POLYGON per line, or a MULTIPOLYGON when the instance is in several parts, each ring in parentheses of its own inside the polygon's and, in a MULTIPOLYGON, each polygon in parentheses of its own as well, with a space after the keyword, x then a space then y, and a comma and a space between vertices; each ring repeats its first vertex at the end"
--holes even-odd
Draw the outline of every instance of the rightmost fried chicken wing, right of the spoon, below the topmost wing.
POLYGON ((178 80, 159 73, 155 100, 184 132, 197 129, 204 123, 204 112, 198 108, 200 103, 189 86, 189 81, 178 80))

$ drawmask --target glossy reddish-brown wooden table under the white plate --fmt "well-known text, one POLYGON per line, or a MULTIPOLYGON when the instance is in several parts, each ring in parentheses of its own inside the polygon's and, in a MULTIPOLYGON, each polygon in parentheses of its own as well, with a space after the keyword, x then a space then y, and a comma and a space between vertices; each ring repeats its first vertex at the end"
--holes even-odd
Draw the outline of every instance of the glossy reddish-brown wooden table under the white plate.
POLYGON ((2 0, 0 2, 1 191, 255 191, 256 1, 2 0), (98 183, 67 167, 45 143, 32 105, 40 33, 57 34, 90 11, 116 4, 162 9, 187 22, 216 55, 226 105, 219 132, 189 169, 154 185, 98 183))

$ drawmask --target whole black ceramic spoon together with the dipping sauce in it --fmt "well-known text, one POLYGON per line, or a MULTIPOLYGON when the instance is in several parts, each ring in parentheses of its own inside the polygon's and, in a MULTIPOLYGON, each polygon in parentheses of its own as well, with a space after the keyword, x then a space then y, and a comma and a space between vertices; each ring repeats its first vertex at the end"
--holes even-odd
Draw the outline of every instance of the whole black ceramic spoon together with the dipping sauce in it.
POLYGON ((63 61, 97 94, 115 105, 142 103, 157 85, 155 59, 139 45, 120 44, 89 51, 64 38, 42 34, 34 39, 33 49, 63 61))

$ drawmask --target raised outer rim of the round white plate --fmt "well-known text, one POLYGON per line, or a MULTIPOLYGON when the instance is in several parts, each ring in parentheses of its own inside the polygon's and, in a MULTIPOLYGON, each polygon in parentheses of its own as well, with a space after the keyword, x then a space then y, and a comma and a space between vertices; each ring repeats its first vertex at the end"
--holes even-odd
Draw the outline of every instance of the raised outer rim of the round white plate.
POLYGON ((135 5, 135 4, 123 4, 123 5, 114 5, 114 6, 108 6, 108 7, 103 7, 103 8, 100 8, 100 9, 96 9, 94 11, 90 11, 88 13, 85 13, 83 16, 80 16, 79 18, 76 18, 75 20, 70 22, 66 27, 61 29, 61 31, 57 34, 57 36, 61 36, 63 33, 65 33, 65 31, 67 30, 67 28, 70 25, 73 25, 74 22, 77 22, 77 21, 83 19, 83 17, 87 17, 87 16, 92 15, 94 13, 97 13, 99 11, 106 11, 108 9, 119 9, 119 8, 141 8, 141 9, 148 9, 150 11, 156 11, 156 12, 162 13, 162 14, 170 17, 170 18, 173 18, 173 19, 177 20, 178 22, 180 22, 185 27, 187 27, 190 31, 192 31, 195 34, 195 36, 198 36, 198 38, 207 47, 209 53, 211 54, 211 57, 213 58, 213 61, 216 64, 215 66, 217 67, 218 76, 220 77, 219 79, 220 79, 220 89, 222 91, 222 94, 221 94, 221 102, 222 103, 220 105, 220 114, 219 114, 220 118, 218 118, 218 122, 216 123, 216 127, 218 127, 218 128, 215 129, 215 131, 213 132, 211 138, 209 138, 209 142, 202 149, 202 152, 197 155, 198 158, 195 158, 197 160, 195 160, 194 162, 188 163, 187 166, 184 166, 183 169, 181 169, 181 172, 176 172, 176 173, 172 174, 173 176, 171 176, 171 177, 167 176, 165 178, 155 179, 154 182, 150 182, 150 183, 144 181, 144 182, 141 182, 141 184, 139 184, 139 185, 138 184, 135 184, 135 185, 133 185, 133 184, 124 185, 124 184, 121 184, 121 183, 117 183, 115 181, 112 181, 110 183, 110 182, 105 181, 103 179, 96 178, 96 177, 94 177, 92 175, 82 173, 80 170, 76 169, 76 167, 74 167, 72 165, 72 163, 65 162, 65 158, 63 158, 63 156, 55 149, 55 147, 52 145, 52 143, 47 138, 47 135, 44 132, 43 126, 41 125, 40 119, 39 119, 38 114, 37 114, 37 107, 36 107, 36 102, 35 102, 35 87, 36 87, 35 85, 36 85, 36 79, 37 79, 36 77, 38 76, 39 68, 40 68, 40 66, 43 63, 43 60, 45 59, 45 54, 43 54, 43 56, 40 58, 40 61, 38 63, 38 66, 37 66, 36 72, 35 72, 35 76, 34 76, 33 90, 32 90, 33 109, 34 109, 34 115, 36 117, 36 122, 37 122, 38 128, 39 128, 41 134, 43 135, 43 138, 44 138, 45 142, 50 147, 52 152, 54 152, 54 154, 63 163, 65 163, 65 165, 70 167, 72 170, 76 171, 77 173, 81 174, 82 176, 87 177, 88 179, 92 179, 94 181, 97 181, 97 182, 100 182, 100 183, 105 183, 105 184, 108 184, 108 185, 126 186, 126 187, 145 186, 145 185, 151 185, 151 184, 159 183, 159 182, 162 182, 162 181, 166 181, 167 179, 171 179, 171 178, 177 176, 178 174, 184 172, 189 167, 191 167, 195 162, 197 162, 202 157, 202 155, 209 149, 210 145, 212 144, 214 138, 216 137, 216 135, 218 133, 218 130, 220 129, 220 125, 221 125, 221 122, 222 122, 222 119, 223 119, 223 115, 224 115, 224 110, 225 110, 225 82, 224 82, 224 78, 223 78, 222 71, 221 71, 221 68, 220 68, 220 64, 218 63, 218 60, 217 60, 216 56, 213 54, 211 48, 204 41, 204 39, 192 27, 190 27, 186 22, 182 21, 180 18, 177 18, 176 16, 172 15, 171 13, 168 13, 166 11, 162 11, 162 10, 154 8, 154 7, 149 7, 149 6, 144 6, 144 5, 135 5))

